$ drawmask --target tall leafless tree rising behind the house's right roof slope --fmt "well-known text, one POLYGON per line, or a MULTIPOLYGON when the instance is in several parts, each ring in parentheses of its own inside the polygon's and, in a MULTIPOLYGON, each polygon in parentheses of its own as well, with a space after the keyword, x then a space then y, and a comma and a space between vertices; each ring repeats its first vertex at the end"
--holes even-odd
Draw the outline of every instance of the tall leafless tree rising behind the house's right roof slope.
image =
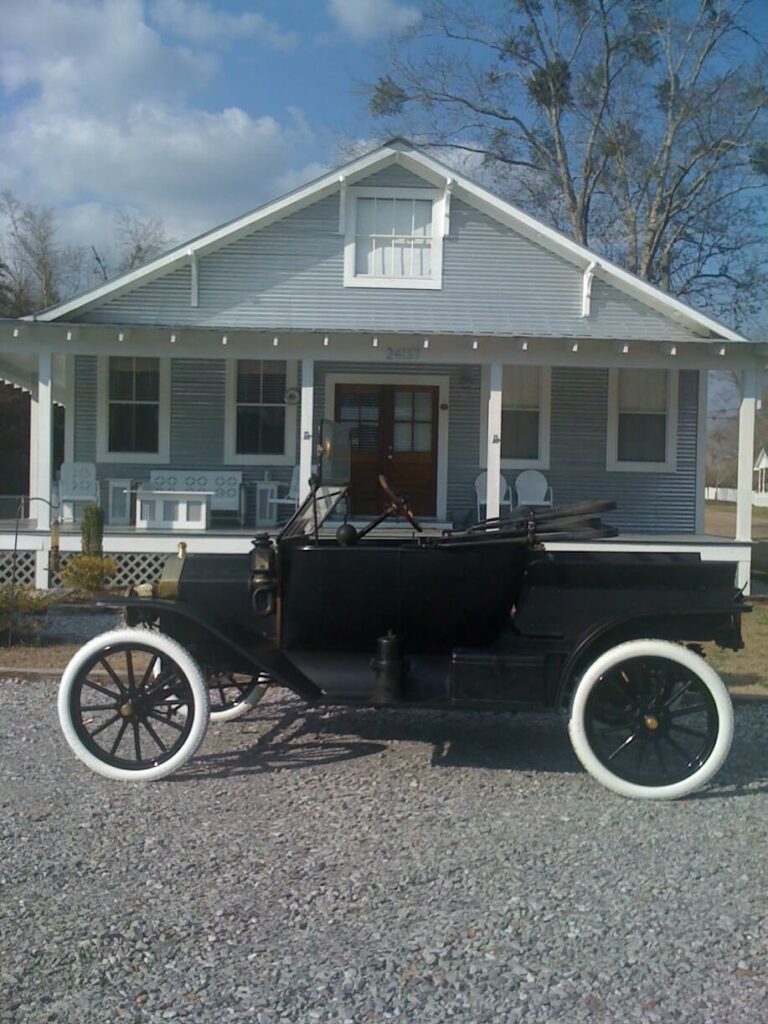
POLYGON ((765 294, 752 0, 430 0, 370 93, 582 244, 742 323, 765 294))

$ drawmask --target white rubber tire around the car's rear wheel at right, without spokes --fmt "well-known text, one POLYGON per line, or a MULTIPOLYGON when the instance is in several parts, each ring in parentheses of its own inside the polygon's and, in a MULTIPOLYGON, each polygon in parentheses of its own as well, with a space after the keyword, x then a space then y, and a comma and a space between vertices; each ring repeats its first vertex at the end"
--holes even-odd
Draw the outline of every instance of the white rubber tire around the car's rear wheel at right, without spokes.
POLYGON ((608 790, 639 800, 677 800, 705 785, 723 766, 733 739, 733 706, 720 676, 692 650, 669 640, 630 640, 601 654, 580 679, 570 705, 568 735, 584 767, 608 790), (693 774, 670 785, 641 785, 621 778, 596 757, 587 737, 585 709, 593 687, 608 670, 634 657, 664 657, 689 669, 710 691, 717 708, 718 735, 709 758, 693 774))

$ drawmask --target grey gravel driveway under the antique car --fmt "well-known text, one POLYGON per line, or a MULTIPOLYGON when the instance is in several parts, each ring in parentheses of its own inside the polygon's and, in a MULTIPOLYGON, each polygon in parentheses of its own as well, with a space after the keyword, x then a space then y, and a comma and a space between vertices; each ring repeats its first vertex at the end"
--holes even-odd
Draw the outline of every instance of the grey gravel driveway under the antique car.
POLYGON ((641 804, 559 720, 274 698, 156 783, 0 685, 0 1021, 768 1020, 768 707, 641 804))

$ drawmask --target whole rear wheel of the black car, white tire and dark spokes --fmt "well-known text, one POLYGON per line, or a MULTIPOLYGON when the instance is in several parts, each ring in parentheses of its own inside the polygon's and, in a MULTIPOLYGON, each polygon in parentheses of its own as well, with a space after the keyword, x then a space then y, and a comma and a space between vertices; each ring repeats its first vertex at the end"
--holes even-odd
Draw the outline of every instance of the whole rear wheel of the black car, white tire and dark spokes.
POLYGON ((673 800, 721 768, 733 709, 723 681, 698 654, 666 640, 631 640, 584 673, 568 732, 579 760, 609 790, 673 800))

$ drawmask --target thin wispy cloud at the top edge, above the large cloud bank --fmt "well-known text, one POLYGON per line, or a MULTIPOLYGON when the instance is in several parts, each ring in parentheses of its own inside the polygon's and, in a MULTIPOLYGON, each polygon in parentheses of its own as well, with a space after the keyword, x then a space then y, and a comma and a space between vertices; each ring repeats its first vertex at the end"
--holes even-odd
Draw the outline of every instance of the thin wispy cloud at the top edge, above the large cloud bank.
POLYGON ((151 15, 160 28, 193 43, 255 39, 279 50, 298 43, 295 32, 284 32, 256 11, 230 14, 198 0, 157 0, 151 15))

